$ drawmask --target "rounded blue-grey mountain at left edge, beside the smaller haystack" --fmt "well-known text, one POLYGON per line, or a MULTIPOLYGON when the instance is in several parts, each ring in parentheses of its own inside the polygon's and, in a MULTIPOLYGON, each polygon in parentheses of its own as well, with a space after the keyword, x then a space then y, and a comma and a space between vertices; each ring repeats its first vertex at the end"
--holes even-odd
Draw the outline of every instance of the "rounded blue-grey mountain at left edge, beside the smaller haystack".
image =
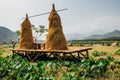
POLYGON ((10 29, 0 26, 0 43, 9 43, 11 40, 18 40, 17 35, 10 29))

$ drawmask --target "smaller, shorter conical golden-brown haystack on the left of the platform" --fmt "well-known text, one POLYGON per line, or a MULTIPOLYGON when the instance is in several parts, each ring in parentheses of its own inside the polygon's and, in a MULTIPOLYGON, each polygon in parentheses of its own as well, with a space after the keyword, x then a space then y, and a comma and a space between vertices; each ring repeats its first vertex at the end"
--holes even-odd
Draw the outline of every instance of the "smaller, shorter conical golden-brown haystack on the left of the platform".
POLYGON ((18 44, 18 49, 32 49, 33 48, 32 25, 26 14, 25 20, 21 24, 21 37, 18 44))

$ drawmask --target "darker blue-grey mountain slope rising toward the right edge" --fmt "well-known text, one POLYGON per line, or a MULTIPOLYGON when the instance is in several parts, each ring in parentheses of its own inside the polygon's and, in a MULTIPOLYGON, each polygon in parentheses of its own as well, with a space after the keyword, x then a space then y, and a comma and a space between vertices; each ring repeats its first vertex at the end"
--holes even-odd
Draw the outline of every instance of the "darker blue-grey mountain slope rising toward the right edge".
POLYGON ((112 32, 109 32, 103 35, 91 35, 86 37, 85 39, 102 39, 102 38, 109 38, 109 37, 120 37, 120 31, 114 30, 112 32))

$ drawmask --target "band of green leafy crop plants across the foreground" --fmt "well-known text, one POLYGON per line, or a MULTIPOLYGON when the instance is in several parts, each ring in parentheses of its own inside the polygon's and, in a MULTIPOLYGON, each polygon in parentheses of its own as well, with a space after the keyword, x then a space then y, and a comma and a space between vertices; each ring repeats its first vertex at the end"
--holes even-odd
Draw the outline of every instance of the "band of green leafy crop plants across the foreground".
POLYGON ((120 65, 113 57, 83 59, 79 62, 58 60, 38 61, 31 64, 21 56, 0 57, 0 79, 3 80, 84 80, 100 79, 109 75, 109 69, 119 76, 120 65))

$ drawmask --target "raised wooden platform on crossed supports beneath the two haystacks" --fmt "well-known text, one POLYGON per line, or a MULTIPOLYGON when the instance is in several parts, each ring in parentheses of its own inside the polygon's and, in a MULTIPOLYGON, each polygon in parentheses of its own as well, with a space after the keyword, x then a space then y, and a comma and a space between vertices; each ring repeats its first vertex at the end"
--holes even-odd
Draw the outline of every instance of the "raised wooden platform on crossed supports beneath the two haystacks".
POLYGON ((13 55, 15 54, 23 54, 28 57, 29 60, 34 61, 40 55, 45 54, 48 58, 53 56, 60 61, 63 61, 62 57, 66 57, 66 55, 70 55, 74 60, 80 60, 81 57, 89 58, 88 50, 91 50, 91 47, 69 47, 68 50, 45 50, 45 49, 12 49, 13 55), (77 53, 77 55, 74 55, 77 53), (35 56, 31 57, 31 54, 35 54, 35 56))

